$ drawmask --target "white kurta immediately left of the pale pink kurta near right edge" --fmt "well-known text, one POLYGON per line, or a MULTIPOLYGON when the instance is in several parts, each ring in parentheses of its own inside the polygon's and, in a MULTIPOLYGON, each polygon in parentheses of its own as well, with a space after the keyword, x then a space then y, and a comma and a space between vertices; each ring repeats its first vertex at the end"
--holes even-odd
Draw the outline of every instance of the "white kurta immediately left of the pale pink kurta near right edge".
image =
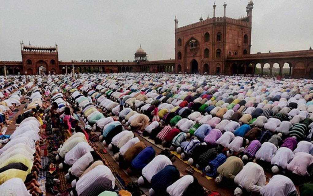
POLYGON ((278 165, 284 169, 287 168, 288 163, 293 159, 294 153, 290 148, 281 147, 278 148, 276 154, 271 160, 272 165, 278 165))

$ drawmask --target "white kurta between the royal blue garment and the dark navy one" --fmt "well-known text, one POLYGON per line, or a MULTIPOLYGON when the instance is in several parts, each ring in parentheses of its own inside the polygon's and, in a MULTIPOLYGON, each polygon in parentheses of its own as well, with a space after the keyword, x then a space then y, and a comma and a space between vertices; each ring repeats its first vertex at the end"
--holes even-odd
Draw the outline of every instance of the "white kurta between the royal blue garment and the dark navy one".
POLYGON ((172 161, 165 155, 157 155, 142 169, 142 176, 144 176, 147 181, 151 183, 152 177, 167 165, 172 165, 172 161))

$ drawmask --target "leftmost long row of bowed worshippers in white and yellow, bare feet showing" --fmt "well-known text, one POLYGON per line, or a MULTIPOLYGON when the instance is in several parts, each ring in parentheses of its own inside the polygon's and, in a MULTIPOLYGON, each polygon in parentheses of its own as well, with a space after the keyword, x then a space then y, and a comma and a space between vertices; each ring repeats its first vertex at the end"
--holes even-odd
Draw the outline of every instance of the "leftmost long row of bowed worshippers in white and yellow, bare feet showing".
MULTIPOLYGON (((38 85, 38 84, 37 84, 38 85)), ((25 115, 18 127, 8 136, 8 143, 0 149, 0 193, 12 195, 40 195, 42 190, 37 181, 39 171, 41 170, 41 150, 39 142, 41 141, 42 121, 38 120, 38 112, 32 107, 42 106, 41 94, 37 93, 38 86, 33 82, 27 83, 21 88, 19 97, 24 93, 30 92, 30 102, 25 106, 23 114, 25 115)), ((39 90, 40 91, 40 90, 39 90)), ((14 94, 15 94, 14 93, 14 94)), ((17 100, 21 101, 21 99, 17 100)), ((40 119, 40 118, 39 118, 40 119)))

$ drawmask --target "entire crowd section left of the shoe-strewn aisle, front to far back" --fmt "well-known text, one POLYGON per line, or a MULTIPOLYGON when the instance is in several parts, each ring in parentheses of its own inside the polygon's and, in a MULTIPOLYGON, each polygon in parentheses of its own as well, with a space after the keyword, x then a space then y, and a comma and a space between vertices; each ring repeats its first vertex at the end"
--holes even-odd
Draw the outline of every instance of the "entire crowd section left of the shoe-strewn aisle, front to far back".
POLYGON ((0 135, 1 143, 5 144, 0 149, 0 195, 42 195, 37 181, 42 169, 39 148, 43 126, 41 89, 25 77, 19 79, 6 88, 0 103, 2 112, 11 113, 17 112, 21 103, 28 102, 14 132, 8 135, 2 129, 0 135))

